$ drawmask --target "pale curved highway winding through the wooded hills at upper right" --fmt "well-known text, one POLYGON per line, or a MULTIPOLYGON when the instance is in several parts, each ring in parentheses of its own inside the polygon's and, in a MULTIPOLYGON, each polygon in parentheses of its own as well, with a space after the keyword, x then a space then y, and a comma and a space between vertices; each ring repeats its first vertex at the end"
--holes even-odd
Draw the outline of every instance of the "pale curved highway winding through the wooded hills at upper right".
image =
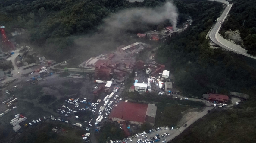
POLYGON ((209 33, 209 38, 212 40, 212 42, 214 42, 215 44, 219 45, 220 47, 226 49, 226 50, 229 50, 229 51, 232 51, 232 52, 235 52, 237 54, 242 54, 246 57, 250 57, 250 58, 253 58, 253 59, 256 59, 256 57, 254 56, 251 56, 245 52, 242 52, 244 50, 238 50, 230 45, 224 45, 224 43, 221 43, 220 40, 217 38, 217 34, 220 30, 220 27, 221 27, 221 23, 225 20, 227 14, 229 13, 229 10, 231 9, 232 7, 232 4, 229 4, 228 1, 224 1, 224 0, 208 0, 208 1, 217 1, 217 2, 221 2, 223 4, 226 4, 227 7, 225 8, 225 10, 223 11, 223 13, 221 14, 220 18, 218 19, 218 22, 214 25, 214 27, 210 30, 210 33, 209 33))

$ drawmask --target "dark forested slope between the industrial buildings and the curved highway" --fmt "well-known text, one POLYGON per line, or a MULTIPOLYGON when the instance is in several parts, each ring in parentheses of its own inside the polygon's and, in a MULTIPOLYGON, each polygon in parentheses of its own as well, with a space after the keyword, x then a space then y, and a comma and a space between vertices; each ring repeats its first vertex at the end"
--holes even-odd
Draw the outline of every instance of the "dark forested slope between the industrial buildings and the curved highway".
POLYGON ((222 4, 193 1, 187 4, 187 10, 192 25, 182 34, 171 36, 167 45, 158 50, 157 59, 174 73, 176 87, 184 95, 201 97, 211 89, 229 94, 229 91, 247 92, 255 86, 256 72, 245 63, 248 59, 241 60, 241 56, 221 48, 211 49, 205 39, 223 10, 222 4))

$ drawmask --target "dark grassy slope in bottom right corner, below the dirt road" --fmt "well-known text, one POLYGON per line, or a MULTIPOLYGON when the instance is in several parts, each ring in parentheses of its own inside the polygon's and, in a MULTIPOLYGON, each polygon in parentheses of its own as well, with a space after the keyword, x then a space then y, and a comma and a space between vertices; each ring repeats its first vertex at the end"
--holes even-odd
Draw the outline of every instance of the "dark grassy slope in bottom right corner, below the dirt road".
POLYGON ((255 111, 231 108, 213 110, 170 143, 256 142, 255 111))

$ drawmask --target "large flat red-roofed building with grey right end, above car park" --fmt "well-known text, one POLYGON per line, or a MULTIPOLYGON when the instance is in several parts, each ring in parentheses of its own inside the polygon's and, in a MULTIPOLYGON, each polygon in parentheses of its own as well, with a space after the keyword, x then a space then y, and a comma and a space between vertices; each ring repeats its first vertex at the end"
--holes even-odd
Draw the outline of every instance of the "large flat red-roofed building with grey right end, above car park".
POLYGON ((112 121, 128 121, 131 124, 141 125, 149 122, 155 125, 157 107, 154 104, 139 104, 120 101, 112 109, 109 118, 112 121))

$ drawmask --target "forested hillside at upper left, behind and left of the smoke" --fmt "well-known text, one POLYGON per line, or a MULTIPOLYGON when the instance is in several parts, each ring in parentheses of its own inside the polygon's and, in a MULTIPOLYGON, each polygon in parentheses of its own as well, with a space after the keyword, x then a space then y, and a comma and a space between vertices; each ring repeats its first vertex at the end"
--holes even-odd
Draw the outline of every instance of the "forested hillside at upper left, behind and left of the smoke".
MULTIPOLYGON (((125 0, 3 0, 0 4, 0 24, 5 25, 9 37, 14 28, 24 28, 29 34, 26 37, 28 44, 39 47, 48 58, 63 60, 73 54, 83 56, 81 53, 89 48, 82 48, 83 51, 77 52, 78 45, 74 40, 85 34, 91 36, 100 32, 99 25, 111 13, 131 7, 155 7, 164 1, 129 3, 125 0)), ((150 26, 154 28, 157 25, 150 26)), ((100 43, 99 41, 102 42, 101 37, 95 43, 100 43)), ((112 48, 116 48, 116 45, 112 48)))

